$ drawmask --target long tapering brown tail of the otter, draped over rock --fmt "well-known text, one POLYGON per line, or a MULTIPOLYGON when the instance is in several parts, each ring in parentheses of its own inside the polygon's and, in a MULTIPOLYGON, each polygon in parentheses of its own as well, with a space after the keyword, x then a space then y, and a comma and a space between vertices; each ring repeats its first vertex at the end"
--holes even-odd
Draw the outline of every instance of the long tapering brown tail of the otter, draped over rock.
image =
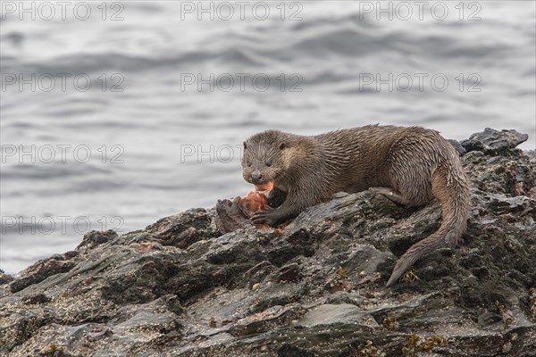
MULTIPOLYGON (((457 158, 456 158, 457 159, 457 158)), ((431 191, 441 203, 443 222, 437 232, 412 245, 398 259, 387 286, 393 285, 416 261, 441 248, 454 248, 464 233, 469 214, 469 183, 458 163, 436 169, 431 177, 431 191)))

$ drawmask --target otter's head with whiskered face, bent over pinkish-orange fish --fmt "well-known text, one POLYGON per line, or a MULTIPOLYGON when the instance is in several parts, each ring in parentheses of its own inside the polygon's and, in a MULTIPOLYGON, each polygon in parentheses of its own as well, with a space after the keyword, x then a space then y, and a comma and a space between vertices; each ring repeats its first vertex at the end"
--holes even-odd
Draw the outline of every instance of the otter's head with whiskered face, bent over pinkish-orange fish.
POLYGON ((289 148, 287 134, 278 130, 266 130, 249 137, 244 142, 242 169, 244 179, 253 185, 273 182, 288 170, 285 155, 289 148))

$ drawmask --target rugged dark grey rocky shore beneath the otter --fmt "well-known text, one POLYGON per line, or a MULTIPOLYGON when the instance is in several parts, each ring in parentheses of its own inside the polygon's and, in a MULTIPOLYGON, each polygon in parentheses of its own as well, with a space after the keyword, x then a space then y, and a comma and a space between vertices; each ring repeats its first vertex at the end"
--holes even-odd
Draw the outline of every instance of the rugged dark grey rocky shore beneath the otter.
MULTIPOLYGON (((536 155, 515 130, 451 141, 472 180, 455 250, 385 287, 440 205, 339 193, 283 230, 191 209, 0 272, 10 356, 536 356, 536 155)), ((217 197, 214 197, 214 201, 217 197)))

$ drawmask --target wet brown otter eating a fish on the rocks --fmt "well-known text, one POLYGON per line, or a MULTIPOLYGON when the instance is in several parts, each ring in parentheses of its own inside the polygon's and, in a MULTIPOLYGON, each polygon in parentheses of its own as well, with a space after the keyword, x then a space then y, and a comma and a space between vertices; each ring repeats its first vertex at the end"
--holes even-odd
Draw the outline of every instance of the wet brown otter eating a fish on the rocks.
POLYGON ((387 286, 423 256, 454 248, 466 228, 468 179, 454 147, 432 129, 367 125, 311 137, 266 130, 244 142, 241 163, 247 182, 273 184, 284 196, 279 207, 255 212, 255 224, 278 225, 339 191, 369 189, 416 207, 437 198, 440 228, 398 259, 387 286))

